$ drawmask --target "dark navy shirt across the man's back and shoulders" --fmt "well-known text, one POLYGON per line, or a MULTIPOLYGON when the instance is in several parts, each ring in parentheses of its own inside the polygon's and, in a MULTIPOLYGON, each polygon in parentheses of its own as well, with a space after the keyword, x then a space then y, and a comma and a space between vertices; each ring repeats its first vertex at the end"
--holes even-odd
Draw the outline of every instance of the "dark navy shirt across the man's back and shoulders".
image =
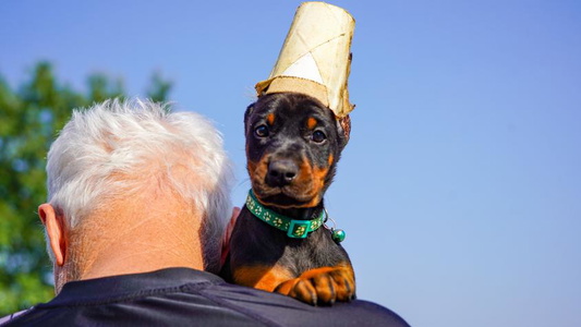
POLYGON ((394 312, 371 302, 311 306, 189 268, 69 282, 52 301, 2 326, 97 325, 409 326, 394 312))

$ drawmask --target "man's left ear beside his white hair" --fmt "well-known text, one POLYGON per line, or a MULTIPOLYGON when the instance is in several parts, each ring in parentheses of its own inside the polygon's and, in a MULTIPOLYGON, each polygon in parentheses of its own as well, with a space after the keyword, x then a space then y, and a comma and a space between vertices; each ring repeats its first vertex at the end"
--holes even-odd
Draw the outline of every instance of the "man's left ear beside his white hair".
POLYGON ((64 217, 58 215, 48 203, 38 207, 38 217, 40 217, 40 221, 46 228, 50 250, 55 254, 55 263, 58 266, 64 265, 64 254, 66 253, 64 217))

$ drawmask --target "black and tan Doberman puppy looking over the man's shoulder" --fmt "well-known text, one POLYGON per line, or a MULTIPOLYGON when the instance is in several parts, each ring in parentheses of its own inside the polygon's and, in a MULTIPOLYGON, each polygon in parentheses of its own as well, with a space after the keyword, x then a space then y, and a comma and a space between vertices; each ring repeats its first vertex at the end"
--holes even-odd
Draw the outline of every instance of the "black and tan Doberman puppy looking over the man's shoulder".
POLYGON ((353 267, 324 226, 323 202, 349 141, 349 117, 336 119, 307 95, 275 93, 247 107, 244 130, 252 190, 222 277, 312 305, 354 299, 353 267))

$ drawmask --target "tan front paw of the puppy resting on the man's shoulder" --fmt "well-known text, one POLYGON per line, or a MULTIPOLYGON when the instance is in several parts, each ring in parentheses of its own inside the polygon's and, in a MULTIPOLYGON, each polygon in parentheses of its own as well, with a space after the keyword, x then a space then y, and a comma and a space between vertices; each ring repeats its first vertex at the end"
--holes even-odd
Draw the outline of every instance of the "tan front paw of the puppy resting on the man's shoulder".
POLYGON ((275 292, 312 305, 330 305, 355 298, 355 276, 351 266, 311 269, 280 283, 275 292))

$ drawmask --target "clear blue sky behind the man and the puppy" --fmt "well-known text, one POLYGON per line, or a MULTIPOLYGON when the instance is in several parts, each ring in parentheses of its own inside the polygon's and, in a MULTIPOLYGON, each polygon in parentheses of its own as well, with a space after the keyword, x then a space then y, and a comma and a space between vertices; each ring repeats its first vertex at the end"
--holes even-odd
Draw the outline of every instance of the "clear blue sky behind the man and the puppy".
MULTIPOLYGON (((214 120, 250 187, 242 116, 300 1, 0 2, 0 74, 102 72, 214 120)), ((581 2, 334 1, 356 20, 352 137, 326 202, 359 296, 412 326, 580 326, 581 2)), ((1 108, 0 108, 1 109, 1 108)))

